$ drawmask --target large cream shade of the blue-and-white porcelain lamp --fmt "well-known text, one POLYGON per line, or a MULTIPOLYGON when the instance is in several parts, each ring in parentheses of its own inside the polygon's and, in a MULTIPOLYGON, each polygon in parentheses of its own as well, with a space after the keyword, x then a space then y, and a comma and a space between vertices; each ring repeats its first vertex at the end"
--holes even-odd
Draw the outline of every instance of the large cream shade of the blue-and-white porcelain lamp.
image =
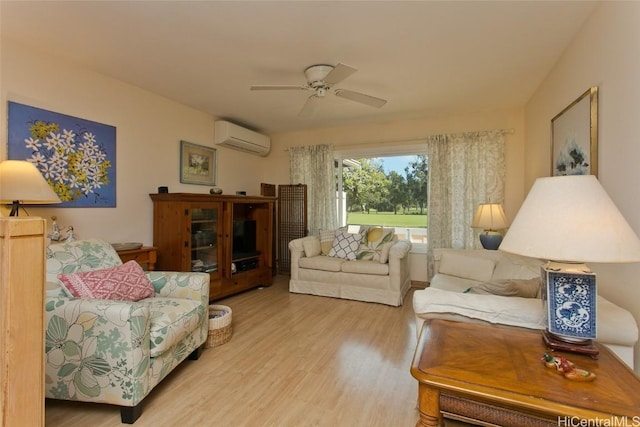
POLYGON ((640 261, 640 240, 593 175, 538 178, 500 250, 554 261, 640 261))

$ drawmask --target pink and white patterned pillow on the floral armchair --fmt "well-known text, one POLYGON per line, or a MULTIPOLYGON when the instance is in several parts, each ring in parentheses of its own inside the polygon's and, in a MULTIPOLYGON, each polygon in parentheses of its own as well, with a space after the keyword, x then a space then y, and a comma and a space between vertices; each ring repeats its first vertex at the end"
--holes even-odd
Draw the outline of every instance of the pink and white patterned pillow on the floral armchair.
POLYGON ((76 298, 138 301, 155 294, 151 281, 135 261, 103 270, 59 274, 58 279, 76 298))

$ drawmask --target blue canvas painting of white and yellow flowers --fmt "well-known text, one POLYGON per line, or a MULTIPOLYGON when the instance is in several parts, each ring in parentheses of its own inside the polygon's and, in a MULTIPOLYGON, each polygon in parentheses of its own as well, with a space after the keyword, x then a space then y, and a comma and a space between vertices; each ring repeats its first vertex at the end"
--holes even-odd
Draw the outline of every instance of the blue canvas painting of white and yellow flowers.
POLYGON ((116 206, 116 128, 9 102, 8 158, 38 168, 61 205, 116 206))

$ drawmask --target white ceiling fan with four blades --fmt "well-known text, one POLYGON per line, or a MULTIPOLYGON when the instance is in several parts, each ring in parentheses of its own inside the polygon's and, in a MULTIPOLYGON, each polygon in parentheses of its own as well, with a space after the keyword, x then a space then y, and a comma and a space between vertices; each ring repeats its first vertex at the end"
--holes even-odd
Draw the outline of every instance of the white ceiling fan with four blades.
POLYGON ((387 103, 386 99, 365 95, 347 89, 335 89, 333 86, 340 83, 351 74, 358 71, 356 68, 344 64, 333 65, 318 64, 307 67, 304 75, 307 83, 304 85, 253 85, 251 90, 310 90, 314 94, 307 98, 307 101, 300 110, 301 116, 311 115, 318 106, 318 103, 327 93, 332 93, 340 98, 380 108, 387 103))

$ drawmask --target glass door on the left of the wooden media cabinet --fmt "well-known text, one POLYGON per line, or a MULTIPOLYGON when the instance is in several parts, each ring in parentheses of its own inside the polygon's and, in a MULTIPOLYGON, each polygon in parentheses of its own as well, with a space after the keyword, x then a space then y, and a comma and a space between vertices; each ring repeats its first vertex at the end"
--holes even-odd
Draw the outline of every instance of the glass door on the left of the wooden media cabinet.
POLYGON ((218 216, 216 206, 191 209, 191 271, 218 274, 218 216))

